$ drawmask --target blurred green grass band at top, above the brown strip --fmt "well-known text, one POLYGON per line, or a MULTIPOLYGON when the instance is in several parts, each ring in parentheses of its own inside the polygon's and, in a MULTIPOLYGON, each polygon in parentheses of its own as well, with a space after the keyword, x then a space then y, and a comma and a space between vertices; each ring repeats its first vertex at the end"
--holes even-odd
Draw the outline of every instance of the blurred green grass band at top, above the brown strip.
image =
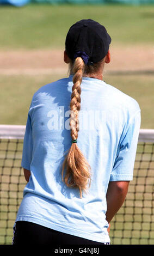
POLYGON ((70 26, 81 19, 102 23, 113 44, 153 44, 153 5, 35 5, 1 7, 0 48, 64 47, 70 26))

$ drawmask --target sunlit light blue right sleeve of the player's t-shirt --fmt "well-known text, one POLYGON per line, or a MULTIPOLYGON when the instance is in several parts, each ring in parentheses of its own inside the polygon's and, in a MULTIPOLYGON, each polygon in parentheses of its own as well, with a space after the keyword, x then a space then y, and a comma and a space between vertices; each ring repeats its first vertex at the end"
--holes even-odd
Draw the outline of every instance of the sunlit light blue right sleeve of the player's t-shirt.
POLYGON ((126 181, 133 179, 133 169, 140 129, 140 111, 138 111, 120 142, 118 155, 116 156, 110 181, 126 181))

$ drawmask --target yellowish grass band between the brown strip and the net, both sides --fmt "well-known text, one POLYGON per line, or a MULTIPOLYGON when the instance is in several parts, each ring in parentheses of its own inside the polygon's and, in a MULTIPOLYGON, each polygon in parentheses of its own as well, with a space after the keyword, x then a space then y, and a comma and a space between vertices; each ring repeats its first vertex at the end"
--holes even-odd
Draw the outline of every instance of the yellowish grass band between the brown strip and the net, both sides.
MULTIPOLYGON (((34 92, 41 86, 44 86, 44 84, 61 77, 60 75, 0 76, 1 124, 26 124, 28 108, 34 92)), ((141 108, 141 128, 154 129, 152 109, 154 87, 152 75, 108 75, 104 76, 104 81, 137 100, 141 108)))

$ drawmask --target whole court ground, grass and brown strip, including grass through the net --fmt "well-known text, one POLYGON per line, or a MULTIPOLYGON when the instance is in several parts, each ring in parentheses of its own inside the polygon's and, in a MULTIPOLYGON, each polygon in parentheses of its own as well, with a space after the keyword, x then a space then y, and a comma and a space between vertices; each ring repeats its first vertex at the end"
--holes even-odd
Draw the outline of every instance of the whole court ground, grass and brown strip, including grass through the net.
MULTIPOLYGON (((154 5, 30 4, 22 8, 1 7, 1 124, 25 125, 33 93, 44 84, 67 76, 67 68, 62 64, 63 54, 59 51, 64 49, 67 29, 72 23, 88 18, 102 23, 112 36, 114 64, 105 72, 104 81, 134 97, 141 108, 141 128, 154 129, 154 5), (54 50, 58 54, 53 54, 54 50), (41 51, 41 55, 35 51, 41 51)), ((9 147, 14 149, 14 145, 9 147)), ((20 159, 22 144, 19 143, 18 147, 16 154, 20 159)), ((147 154, 142 155, 143 147, 139 146, 135 163, 134 173, 138 181, 135 178, 132 182, 128 200, 113 220, 110 235, 116 236, 114 244, 153 244, 153 146, 147 145, 147 154), (144 161, 140 157, 144 157, 144 161), (133 222, 130 223, 132 215, 133 222), (133 237, 132 240, 129 237, 133 237)), ((3 154, 0 153, 0 158, 3 154)), ((10 152, 9 156, 13 158, 14 153, 10 152)), ((20 160, 14 162, 16 168, 12 168, 13 160, 7 160, 6 165, 1 203, 7 205, 1 209, 4 221, 1 223, 0 244, 11 243, 16 203, 20 203, 25 184, 20 160)))

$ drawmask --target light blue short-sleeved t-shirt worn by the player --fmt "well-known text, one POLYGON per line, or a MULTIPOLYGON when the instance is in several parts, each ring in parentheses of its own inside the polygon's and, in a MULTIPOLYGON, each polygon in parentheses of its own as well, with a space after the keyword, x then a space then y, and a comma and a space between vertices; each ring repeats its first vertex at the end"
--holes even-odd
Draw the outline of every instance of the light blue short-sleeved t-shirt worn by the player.
POLYGON ((16 221, 29 221, 97 242, 109 242, 109 181, 132 180, 140 108, 106 82, 84 77, 77 144, 91 166, 83 198, 61 180, 71 147, 69 105, 72 76, 41 87, 33 96, 23 143, 22 167, 30 170, 16 221))

